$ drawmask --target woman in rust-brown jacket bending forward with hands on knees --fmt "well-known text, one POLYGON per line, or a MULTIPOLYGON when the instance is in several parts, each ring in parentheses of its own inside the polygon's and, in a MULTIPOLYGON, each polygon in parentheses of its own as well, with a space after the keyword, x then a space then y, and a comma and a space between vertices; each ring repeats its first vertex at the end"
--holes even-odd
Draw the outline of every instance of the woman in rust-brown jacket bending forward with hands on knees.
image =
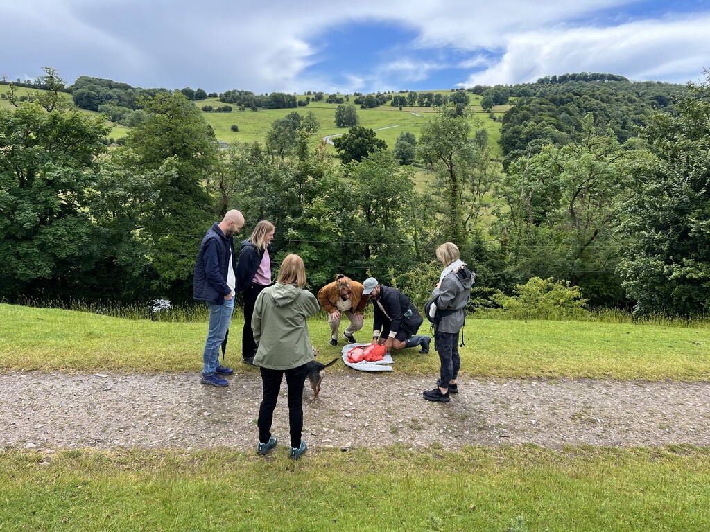
POLYGON ((359 282, 338 274, 333 282, 318 291, 318 302, 328 313, 330 345, 338 345, 338 329, 343 315, 350 321, 350 325, 343 331, 343 336, 349 343, 356 343, 353 335, 362 328, 362 312, 368 299, 363 296, 363 290, 364 287, 359 282))

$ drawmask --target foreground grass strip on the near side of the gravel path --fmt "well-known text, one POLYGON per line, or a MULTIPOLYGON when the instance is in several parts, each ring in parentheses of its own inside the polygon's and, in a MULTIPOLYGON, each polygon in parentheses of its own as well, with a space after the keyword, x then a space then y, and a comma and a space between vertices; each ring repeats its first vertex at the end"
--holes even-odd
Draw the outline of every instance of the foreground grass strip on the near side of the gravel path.
POLYGON ((0 451, 10 531, 706 531, 710 451, 0 451))

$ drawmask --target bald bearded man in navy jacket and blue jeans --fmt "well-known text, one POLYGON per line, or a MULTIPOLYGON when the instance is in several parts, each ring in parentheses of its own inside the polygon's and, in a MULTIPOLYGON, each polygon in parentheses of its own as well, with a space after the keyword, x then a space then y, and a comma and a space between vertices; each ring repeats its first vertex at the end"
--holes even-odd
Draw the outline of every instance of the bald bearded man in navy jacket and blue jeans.
POLYGON ((221 222, 215 222, 200 244, 195 261, 193 297, 207 303, 209 330, 204 343, 202 384, 223 387, 229 384, 221 375, 231 375, 234 370, 219 364, 219 346, 229 330, 234 311, 236 286, 236 255, 234 233, 244 227, 241 212, 231 210, 221 222))

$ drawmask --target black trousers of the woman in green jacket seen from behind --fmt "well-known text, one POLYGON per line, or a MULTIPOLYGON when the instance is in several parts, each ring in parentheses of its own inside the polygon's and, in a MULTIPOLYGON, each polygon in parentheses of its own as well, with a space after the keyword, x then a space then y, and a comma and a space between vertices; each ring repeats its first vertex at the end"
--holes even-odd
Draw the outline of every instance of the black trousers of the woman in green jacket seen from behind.
POLYGON ((273 423, 273 411, 278 401, 278 392, 281 389, 281 377, 286 375, 291 447, 299 448, 303 430, 303 383, 306 380, 306 365, 293 367, 290 370, 269 370, 266 367, 260 369, 263 399, 261 399, 261 406, 259 406, 259 419, 256 422, 259 428, 259 441, 268 443, 271 438, 271 423, 273 423))

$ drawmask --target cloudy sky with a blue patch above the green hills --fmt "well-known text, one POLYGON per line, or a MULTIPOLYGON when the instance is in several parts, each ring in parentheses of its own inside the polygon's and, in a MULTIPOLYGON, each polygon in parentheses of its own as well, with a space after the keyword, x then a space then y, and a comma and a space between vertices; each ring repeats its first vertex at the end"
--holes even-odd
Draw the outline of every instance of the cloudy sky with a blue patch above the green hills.
POLYGON ((0 76, 256 94, 698 82, 710 0, 0 0, 0 76))

